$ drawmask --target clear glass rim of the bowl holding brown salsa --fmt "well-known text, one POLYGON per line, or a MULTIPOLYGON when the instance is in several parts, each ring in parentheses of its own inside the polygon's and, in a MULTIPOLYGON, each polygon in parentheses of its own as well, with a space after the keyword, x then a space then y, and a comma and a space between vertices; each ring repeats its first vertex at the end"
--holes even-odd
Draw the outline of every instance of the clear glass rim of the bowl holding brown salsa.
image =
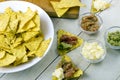
POLYGON ((81 19, 82 19, 81 16, 87 15, 87 14, 94 14, 94 13, 92 13, 92 12, 85 12, 85 13, 83 13, 83 14, 80 15, 80 18, 78 19, 78 25, 79 25, 81 31, 83 31, 83 32, 85 32, 85 33, 87 33, 87 34, 94 34, 94 33, 98 32, 98 31, 100 31, 100 30, 102 29, 102 27, 103 27, 103 19, 102 19, 102 17, 101 17, 99 14, 94 14, 94 15, 95 15, 97 18, 99 18, 100 21, 101 21, 101 23, 100 23, 100 28, 99 28, 97 31, 93 31, 93 32, 92 32, 92 31, 86 31, 86 30, 84 30, 84 29, 81 27, 81 19))

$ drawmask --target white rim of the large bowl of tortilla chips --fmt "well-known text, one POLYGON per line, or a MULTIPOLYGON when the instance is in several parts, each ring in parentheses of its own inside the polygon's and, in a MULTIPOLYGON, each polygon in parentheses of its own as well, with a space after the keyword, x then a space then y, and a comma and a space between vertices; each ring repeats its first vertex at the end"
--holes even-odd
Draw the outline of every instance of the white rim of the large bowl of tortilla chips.
MULTIPOLYGON (((23 71, 25 69, 28 69, 28 68, 34 66, 35 64, 37 64, 38 62, 40 62, 46 56, 46 54, 50 50, 50 48, 51 48, 51 46, 53 44, 53 40, 54 40, 54 25, 52 23, 52 20, 48 16, 48 14, 41 7, 39 7, 39 6, 37 6, 37 5, 33 4, 33 3, 27 2, 27 1, 4 1, 4 2, 1 2, 0 5, 3 5, 3 4, 12 4, 12 3, 13 4, 15 4, 15 3, 27 4, 27 5, 29 5, 27 7, 30 7, 30 5, 32 5, 31 7, 33 7, 34 9, 36 9, 38 11, 42 11, 42 13, 48 18, 48 20, 49 20, 48 23, 50 23, 50 26, 52 28, 52 33, 51 33, 52 35, 49 37, 49 38, 51 38, 51 41, 50 41, 50 44, 49 44, 47 50, 45 51, 44 55, 41 58, 36 57, 36 58, 34 58, 34 60, 31 60, 31 61, 27 62, 29 64, 26 64, 26 63, 25 63, 26 65, 25 64, 21 64, 21 65, 18 65, 17 68, 16 68, 16 66, 12 67, 12 68, 11 68, 11 66, 9 66, 9 67, 0 67, 0 73, 14 73, 14 72, 19 72, 19 71, 23 71), (32 63, 32 64, 30 64, 30 63, 32 63)), ((6 8, 7 7, 11 7, 11 5, 10 6, 6 6, 6 8)), ((20 10, 22 10, 22 9, 20 9, 20 10)), ((40 15, 41 13, 38 12, 38 14, 40 15)))

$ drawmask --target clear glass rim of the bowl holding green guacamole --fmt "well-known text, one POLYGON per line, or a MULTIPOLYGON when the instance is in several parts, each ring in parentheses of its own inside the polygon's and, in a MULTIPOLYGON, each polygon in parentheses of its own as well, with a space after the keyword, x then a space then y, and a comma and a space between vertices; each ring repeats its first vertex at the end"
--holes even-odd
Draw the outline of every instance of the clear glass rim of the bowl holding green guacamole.
POLYGON ((112 26, 106 29, 105 33, 104 33, 104 39, 105 39, 105 43, 112 49, 120 49, 120 46, 113 46, 110 43, 108 43, 107 41, 107 33, 109 32, 109 30, 113 29, 113 28, 120 28, 120 26, 112 26))

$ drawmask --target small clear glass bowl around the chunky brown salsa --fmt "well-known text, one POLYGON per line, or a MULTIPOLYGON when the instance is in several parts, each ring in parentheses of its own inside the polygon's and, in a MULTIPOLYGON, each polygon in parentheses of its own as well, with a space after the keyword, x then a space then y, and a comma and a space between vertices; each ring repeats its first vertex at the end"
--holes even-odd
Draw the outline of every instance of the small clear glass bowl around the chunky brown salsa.
POLYGON ((81 29, 83 32, 87 33, 87 34, 95 34, 95 33, 97 33, 98 31, 101 30, 102 24, 103 24, 102 18, 101 18, 98 14, 93 14, 93 13, 90 13, 90 12, 87 12, 87 13, 84 13, 84 14, 80 15, 80 19, 78 20, 78 25, 80 26, 80 29, 81 29), (97 30, 95 30, 95 31, 85 30, 85 29, 83 29, 82 26, 81 26, 82 18, 85 17, 85 16, 89 16, 89 15, 95 15, 95 16, 97 17, 97 19, 98 19, 99 28, 98 28, 97 30))

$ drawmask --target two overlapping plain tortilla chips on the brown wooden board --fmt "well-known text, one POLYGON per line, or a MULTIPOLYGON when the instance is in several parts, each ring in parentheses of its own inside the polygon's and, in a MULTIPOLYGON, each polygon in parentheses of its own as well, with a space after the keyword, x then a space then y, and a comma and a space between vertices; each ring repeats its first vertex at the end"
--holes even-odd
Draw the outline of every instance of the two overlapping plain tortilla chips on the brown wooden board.
POLYGON ((50 3, 52 4, 58 17, 61 17, 62 15, 64 15, 71 7, 85 6, 85 4, 82 4, 79 0, 60 0, 60 2, 50 1, 50 3))

